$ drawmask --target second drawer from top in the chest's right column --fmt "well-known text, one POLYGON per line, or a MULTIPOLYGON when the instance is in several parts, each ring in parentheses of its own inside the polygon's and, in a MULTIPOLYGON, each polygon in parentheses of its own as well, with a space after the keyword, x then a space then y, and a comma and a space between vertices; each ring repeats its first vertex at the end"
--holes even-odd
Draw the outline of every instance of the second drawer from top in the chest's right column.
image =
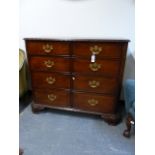
POLYGON ((103 74, 105 76, 116 77, 119 73, 120 61, 115 60, 97 60, 91 63, 84 59, 75 59, 73 62, 74 72, 103 74))

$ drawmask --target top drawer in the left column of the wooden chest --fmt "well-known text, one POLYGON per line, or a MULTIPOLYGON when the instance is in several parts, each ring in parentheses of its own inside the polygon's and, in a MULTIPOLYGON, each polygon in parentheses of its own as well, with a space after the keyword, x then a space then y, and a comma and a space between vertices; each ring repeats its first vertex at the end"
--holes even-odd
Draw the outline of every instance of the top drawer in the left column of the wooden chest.
POLYGON ((52 41, 27 41, 26 48, 31 55, 69 55, 69 43, 52 41))

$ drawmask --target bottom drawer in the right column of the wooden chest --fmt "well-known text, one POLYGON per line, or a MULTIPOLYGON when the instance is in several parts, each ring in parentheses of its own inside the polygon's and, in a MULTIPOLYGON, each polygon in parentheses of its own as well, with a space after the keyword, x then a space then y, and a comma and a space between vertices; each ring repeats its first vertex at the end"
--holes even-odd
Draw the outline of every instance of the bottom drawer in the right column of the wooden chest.
POLYGON ((116 98, 92 93, 74 93, 74 107, 98 113, 115 112, 116 98))

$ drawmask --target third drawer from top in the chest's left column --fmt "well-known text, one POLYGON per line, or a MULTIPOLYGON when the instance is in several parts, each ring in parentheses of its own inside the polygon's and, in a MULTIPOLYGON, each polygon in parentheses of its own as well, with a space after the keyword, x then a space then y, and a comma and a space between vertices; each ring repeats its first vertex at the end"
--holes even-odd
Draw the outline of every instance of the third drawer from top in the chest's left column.
POLYGON ((32 73, 32 84, 34 88, 70 88, 70 77, 58 73, 32 73))

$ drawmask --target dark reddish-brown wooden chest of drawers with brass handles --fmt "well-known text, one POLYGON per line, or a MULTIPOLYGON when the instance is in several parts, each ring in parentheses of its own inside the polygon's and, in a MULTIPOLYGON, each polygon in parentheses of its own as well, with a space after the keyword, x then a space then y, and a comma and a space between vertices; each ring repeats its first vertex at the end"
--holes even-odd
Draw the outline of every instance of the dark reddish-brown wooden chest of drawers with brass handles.
POLYGON ((117 123, 128 40, 26 38, 32 110, 99 114, 117 123))

